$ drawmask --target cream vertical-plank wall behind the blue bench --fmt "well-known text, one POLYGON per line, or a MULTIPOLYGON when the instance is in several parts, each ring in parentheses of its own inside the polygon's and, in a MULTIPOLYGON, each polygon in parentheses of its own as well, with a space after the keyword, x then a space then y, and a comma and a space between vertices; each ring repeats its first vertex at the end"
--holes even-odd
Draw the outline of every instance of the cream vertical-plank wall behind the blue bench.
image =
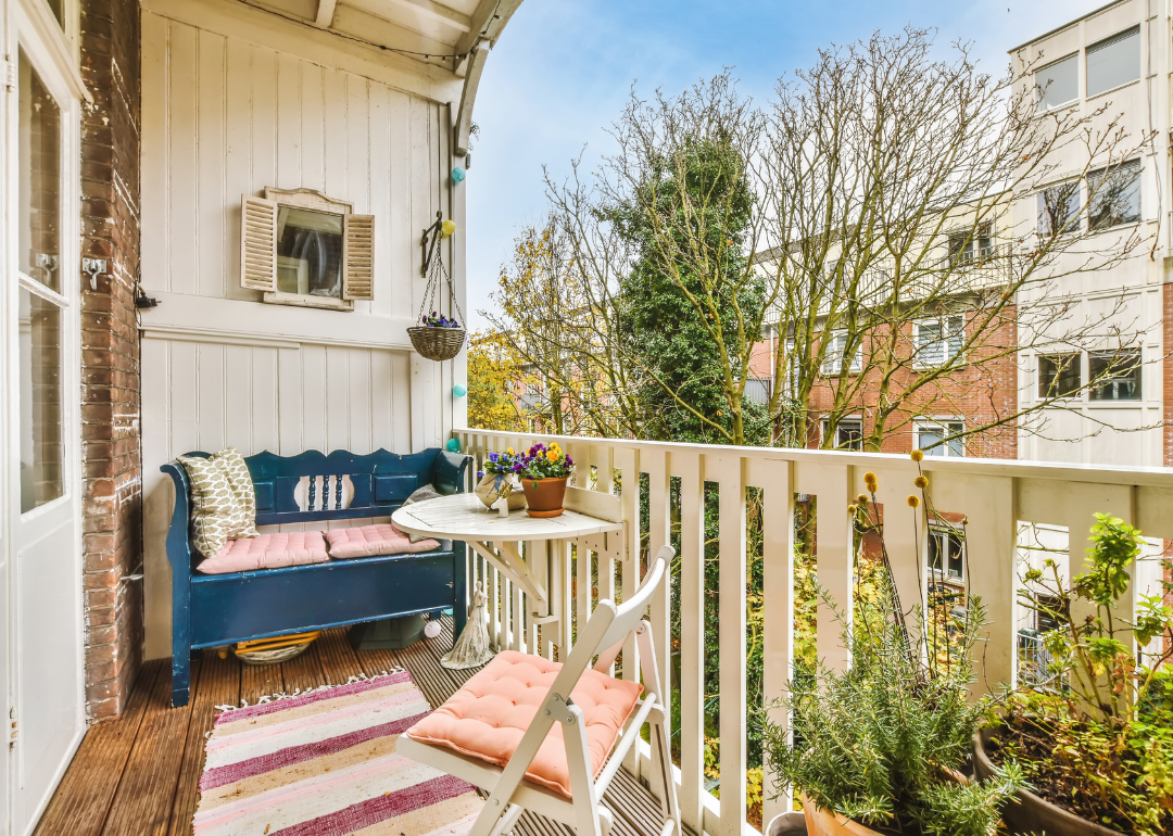
MULTIPOLYGON (((142 315, 147 657, 170 653, 164 539, 174 498, 158 467, 189 450, 409 453, 453 426, 463 359, 411 353, 423 294, 419 238, 436 210, 463 224, 449 171, 450 108, 387 66, 324 66, 298 28, 264 33, 144 8, 142 315), (375 216, 375 294, 351 313, 262 304, 240 287, 240 195, 307 188, 375 216)), ((435 83, 435 95, 443 89, 435 83)), ((459 83, 455 88, 459 95, 459 83)), ((463 307, 463 244, 449 239, 463 307)), ((456 415, 463 421, 462 403, 456 415)))

